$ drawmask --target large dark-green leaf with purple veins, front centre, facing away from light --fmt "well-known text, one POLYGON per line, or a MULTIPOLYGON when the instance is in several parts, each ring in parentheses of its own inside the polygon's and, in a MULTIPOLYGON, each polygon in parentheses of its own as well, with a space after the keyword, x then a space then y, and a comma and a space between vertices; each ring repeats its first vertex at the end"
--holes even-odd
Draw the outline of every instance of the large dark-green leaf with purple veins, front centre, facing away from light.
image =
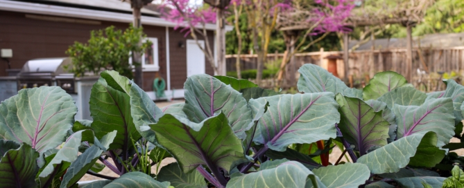
POLYGON ((241 140, 227 124, 223 113, 196 124, 181 117, 166 114, 157 124, 143 130, 156 134, 156 140, 178 161, 184 173, 206 164, 210 169, 230 171, 234 162, 245 159, 241 140))

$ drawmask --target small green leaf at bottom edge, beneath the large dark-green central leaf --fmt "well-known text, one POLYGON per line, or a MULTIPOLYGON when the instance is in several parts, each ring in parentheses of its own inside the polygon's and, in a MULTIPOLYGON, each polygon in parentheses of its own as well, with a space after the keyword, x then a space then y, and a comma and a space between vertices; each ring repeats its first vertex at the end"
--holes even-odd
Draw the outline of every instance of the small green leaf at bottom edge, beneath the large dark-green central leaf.
POLYGON ((205 177, 198 171, 192 173, 183 173, 179 169, 177 162, 168 164, 158 173, 157 180, 160 182, 171 182, 171 186, 176 188, 199 188, 207 187, 205 177))

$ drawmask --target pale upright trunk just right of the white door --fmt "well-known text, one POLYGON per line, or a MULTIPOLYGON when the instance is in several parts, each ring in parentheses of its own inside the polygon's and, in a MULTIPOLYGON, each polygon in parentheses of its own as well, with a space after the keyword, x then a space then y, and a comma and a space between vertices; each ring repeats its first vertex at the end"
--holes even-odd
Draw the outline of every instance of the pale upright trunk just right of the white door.
POLYGON ((216 8, 216 41, 218 75, 225 75, 225 24, 224 10, 221 8, 216 8))

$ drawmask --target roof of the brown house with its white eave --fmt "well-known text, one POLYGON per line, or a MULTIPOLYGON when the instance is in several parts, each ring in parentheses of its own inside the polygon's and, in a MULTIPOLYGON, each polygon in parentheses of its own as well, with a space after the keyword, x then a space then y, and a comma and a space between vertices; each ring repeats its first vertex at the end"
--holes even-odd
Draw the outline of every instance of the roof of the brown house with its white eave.
MULTIPOLYGON (((125 10, 127 8, 130 8, 130 4, 119 0, 0 0, 0 10, 25 12, 38 15, 92 19, 98 21, 132 23, 134 19, 132 16, 132 10, 125 10), (73 1, 73 3, 65 3, 65 1, 73 1), (85 1, 98 1, 99 3, 94 4, 94 6, 91 6, 92 4, 88 2, 85 4, 78 4, 79 2, 85 1), (103 6, 105 5, 105 2, 114 4, 112 4, 112 6, 103 6), (121 5, 121 7, 119 7, 119 9, 113 9, 114 5, 121 5)), ((148 11, 151 13, 142 14, 141 16, 142 25, 166 26, 171 28, 178 26, 177 23, 158 17, 158 12, 148 9, 146 9, 145 12, 148 11)), ((182 26, 187 26, 187 23, 183 23, 182 26)), ((203 26, 197 27, 203 28, 203 26)), ((207 23, 205 24, 205 29, 216 30, 216 25, 207 23)), ((226 31, 230 31, 232 29, 232 26, 225 26, 226 31)))

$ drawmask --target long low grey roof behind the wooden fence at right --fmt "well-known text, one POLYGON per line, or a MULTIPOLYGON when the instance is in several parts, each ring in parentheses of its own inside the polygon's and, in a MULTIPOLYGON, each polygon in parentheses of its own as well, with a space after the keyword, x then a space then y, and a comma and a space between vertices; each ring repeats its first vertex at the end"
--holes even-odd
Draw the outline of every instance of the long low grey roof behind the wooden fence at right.
MULTIPOLYGON (((358 43, 357 40, 350 41, 349 47, 352 48, 358 43)), ((406 38, 391 38, 388 39, 375 39, 375 49, 395 49, 395 48, 406 48, 406 38)), ((421 37, 413 37, 413 47, 417 48, 420 44, 422 48, 447 48, 464 46, 464 32, 459 33, 437 33, 424 35, 421 37)), ((356 50, 370 50, 372 47, 372 41, 368 41, 366 44, 362 44, 356 50)))

